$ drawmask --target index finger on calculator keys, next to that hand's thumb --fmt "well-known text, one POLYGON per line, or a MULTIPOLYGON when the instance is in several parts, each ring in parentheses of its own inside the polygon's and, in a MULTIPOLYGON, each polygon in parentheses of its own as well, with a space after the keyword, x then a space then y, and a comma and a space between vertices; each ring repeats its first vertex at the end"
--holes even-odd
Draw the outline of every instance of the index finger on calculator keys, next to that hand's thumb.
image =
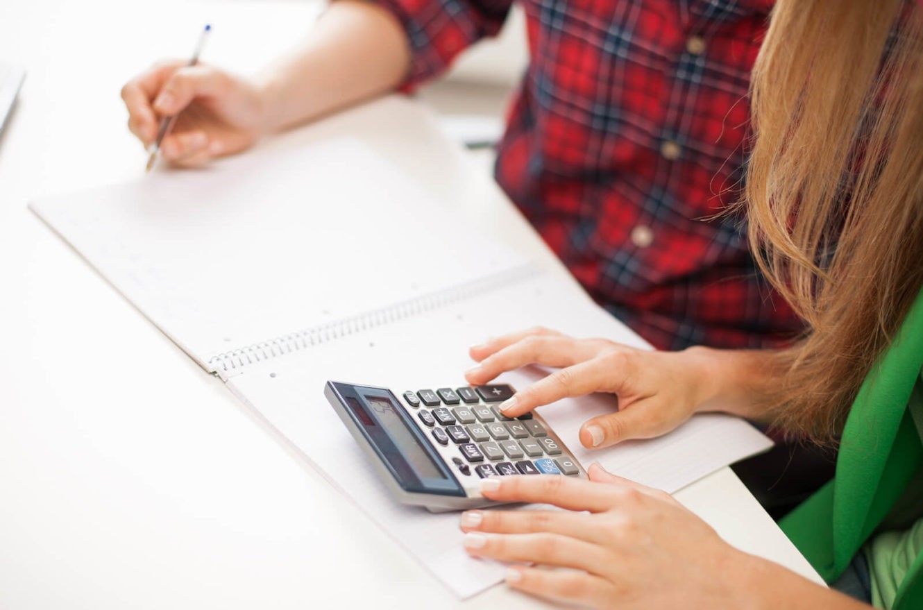
POLYGON ((613 371, 597 358, 561 368, 539 379, 531 386, 516 392, 500 404, 500 411, 508 417, 528 413, 535 407, 551 404, 564 398, 586 396, 597 391, 608 391, 613 371))

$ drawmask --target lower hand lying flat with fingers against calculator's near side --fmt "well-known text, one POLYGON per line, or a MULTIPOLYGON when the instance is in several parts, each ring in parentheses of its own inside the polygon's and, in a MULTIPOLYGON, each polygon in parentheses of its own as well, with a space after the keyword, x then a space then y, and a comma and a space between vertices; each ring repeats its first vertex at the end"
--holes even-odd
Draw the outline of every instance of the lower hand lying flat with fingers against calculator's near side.
POLYGON ((462 514, 473 556, 513 566, 507 583, 524 592, 597 608, 746 607, 745 574, 768 564, 726 544, 665 492, 593 464, 590 481, 562 476, 490 477, 483 493, 558 510, 470 510, 462 514), (574 511, 574 512, 570 512, 574 511), (587 511, 587 512, 577 512, 587 511))

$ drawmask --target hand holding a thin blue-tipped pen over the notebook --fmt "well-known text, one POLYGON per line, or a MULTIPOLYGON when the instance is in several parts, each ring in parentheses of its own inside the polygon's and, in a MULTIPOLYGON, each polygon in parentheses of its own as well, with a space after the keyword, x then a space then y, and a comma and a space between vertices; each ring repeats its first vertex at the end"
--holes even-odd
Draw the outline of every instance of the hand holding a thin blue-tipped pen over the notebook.
POLYGON ((261 135, 263 102, 257 86, 198 63, 210 27, 191 60, 158 64, 122 89, 128 127, 149 153, 181 166, 201 165, 251 146, 261 135))

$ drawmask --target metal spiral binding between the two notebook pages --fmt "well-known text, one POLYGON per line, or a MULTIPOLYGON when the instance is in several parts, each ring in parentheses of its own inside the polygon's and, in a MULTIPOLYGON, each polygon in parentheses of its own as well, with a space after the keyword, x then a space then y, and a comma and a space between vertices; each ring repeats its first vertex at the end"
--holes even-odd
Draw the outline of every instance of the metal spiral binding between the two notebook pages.
POLYGON ((315 345, 336 341, 366 330, 398 322, 408 317, 425 314, 447 305, 453 305, 481 293, 490 292, 501 286, 519 281, 526 281, 538 274, 539 269, 533 264, 526 264, 515 269, 507 269, 494 275, 452 286, 435 293, 424 294, 394 305, 373 309, 364 314, 344 317, 310 329, 261 341, 253 345, 238 348, 230 352, 218 353, 209 359, 212 373, 233 373, 246 365, 253 365, 270 358, 278 358, 286 353, 305 350, 315 345))

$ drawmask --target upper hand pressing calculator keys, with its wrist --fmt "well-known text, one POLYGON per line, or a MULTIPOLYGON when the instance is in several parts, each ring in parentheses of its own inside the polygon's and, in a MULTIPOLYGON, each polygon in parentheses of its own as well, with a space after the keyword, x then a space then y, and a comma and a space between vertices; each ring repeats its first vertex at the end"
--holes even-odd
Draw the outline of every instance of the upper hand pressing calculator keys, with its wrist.
POLYGON ((473 385, 525 365, 557 367, 500 405, 510 416, 563 398, 615 394, 616 413, 594 417, 581 426, 581 443, 587 448, 658 437, 704 411, 764 419, 765 405, 759 399, 766 392, 761 386, 775 378, 767 375, 772 368, 768 350, 692 347, 655 352, 605 339, 573 339, 542 328, 490 339, 473 346, 470 353, 479 363, 465 373, 473 385))

